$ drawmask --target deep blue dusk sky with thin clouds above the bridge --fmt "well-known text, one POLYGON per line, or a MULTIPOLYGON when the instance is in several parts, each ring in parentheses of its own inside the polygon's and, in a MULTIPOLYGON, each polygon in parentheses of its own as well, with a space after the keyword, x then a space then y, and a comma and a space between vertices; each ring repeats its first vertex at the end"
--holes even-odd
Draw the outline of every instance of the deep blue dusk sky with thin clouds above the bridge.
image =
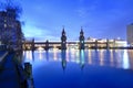
POLYGON ((25 37, 60 41, 62 25, 68 40, 85 37, 126 38, 133 22, 133 0, 22 0, 25 37))

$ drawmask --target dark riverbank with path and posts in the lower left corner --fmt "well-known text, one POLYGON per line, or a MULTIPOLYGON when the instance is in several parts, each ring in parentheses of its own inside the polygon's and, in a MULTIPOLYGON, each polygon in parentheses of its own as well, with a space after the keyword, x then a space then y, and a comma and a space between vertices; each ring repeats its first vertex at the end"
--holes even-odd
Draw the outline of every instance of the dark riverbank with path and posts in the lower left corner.
POLYGON ((18 62, 17 52, 9 52, 3 59, 0 72, 0 87, 28 88, 25 73, 22 65, 18 62))

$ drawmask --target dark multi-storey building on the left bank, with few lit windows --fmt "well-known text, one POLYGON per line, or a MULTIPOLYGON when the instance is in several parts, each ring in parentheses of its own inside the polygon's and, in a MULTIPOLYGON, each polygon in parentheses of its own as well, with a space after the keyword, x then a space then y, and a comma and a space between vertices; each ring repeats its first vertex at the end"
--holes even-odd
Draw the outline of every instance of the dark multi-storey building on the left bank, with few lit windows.
POLYGON ((16 9, 8 8, 6 11, 0 11, 1 44, 12 47, 20 46, 22 37, 21 23, 17 20, 16 9))

